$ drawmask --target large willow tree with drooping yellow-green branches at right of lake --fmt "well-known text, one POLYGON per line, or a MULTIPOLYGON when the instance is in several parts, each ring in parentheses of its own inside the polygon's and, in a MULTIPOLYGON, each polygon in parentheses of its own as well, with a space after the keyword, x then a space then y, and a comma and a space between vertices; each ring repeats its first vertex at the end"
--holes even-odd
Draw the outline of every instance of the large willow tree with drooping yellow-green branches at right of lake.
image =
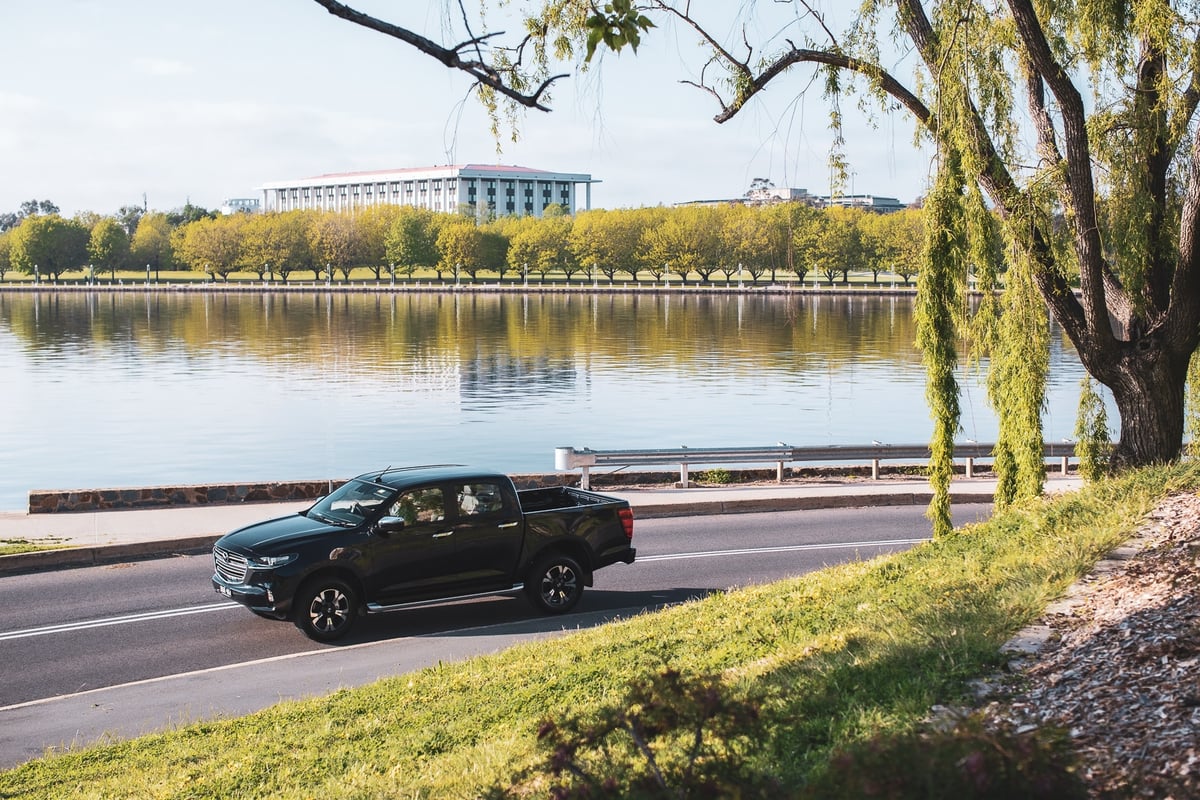
MULTIPOLYGON (((1180 456, 1186 377, 1200 337, 1200 4, 863 0, 835 19, 816 2, 776 0, 708 4, 714 17, 701 19, 700 4, 686 0, 529 0, 516 40, 504 43, 480 20, 442 47, 316 1, 467 72, 497 115, 546 110, 550 88, 570 67, 605 48, 636 49, 667 23, 704 46, 700 78, 688 83, 713 97, 718 122, 768 86, 797 95, 822 88, 839 133, 835 169, 845 167, 847 95, 910 115, 936 152, 918 343, 935 414, 937 530, 949 525, 954 374, 966 355, 956 343, 965 332, 991 356, 1000 500, 1042 488, 1046 307, 1112 393, 1121 425, 1114 467, 1180 456), (775 18, 780 10, 786 19, 775 18), (814 71, 823 79, 814 82, 814 71), (1002 283, 997 236, 1006 246, 1002 283), (1003 291, 968 313, 972 277, 1003 291)), ((466 4, 452 5, 452 16, 466 18, 466 4)))

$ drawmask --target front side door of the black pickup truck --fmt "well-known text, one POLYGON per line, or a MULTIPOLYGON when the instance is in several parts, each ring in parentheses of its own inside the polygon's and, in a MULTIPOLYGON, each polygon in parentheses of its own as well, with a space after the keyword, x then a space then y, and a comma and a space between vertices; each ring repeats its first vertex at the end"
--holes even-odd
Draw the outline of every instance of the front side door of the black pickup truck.
POLYGON ((386 603, 442 594, 457 572, 445 491, 440 486, 408 489, 386 513, 402 517, 404 527, 386 535, 373 534, 370 597, 386 603))

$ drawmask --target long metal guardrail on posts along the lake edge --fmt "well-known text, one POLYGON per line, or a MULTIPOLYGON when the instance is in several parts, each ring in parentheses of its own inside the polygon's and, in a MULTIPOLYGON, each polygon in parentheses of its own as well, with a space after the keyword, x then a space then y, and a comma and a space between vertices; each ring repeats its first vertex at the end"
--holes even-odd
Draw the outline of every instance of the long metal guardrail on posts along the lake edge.
MULTIPOLYGON (((966 475, 974 475, 974 462, 994 458, 992 444, 962 443, 954 445, 954 458, 966 462, 966 475)), ((1045 458, 1061 459, 1062 474, 1068 471, 1068 462, 1075 457, 1074 443, 1045 443, 1045 458)), ((929 445, 826 445, 817 447, 793 447, 773 445, 769 447, 674 447, 670 450, 590 450, 584 447, 556 447, 554 469, 569 471, 582 469, 580 486, 592 488, 593 467, 662 467, 679 464, 679 485, 691 486, 689 468, 692 464, 755 464, 774 463, 775 480, 784 481, 784 465, 788 463, 841 463, 870 462, 871 477, 878 480, 881 461, 928 461, 929 445)))

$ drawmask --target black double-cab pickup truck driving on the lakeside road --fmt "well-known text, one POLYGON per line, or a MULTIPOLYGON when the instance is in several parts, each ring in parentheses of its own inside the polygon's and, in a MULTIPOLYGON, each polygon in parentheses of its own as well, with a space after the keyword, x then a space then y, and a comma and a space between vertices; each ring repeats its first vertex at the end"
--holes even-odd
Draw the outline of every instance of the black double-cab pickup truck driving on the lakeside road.
POLYGON ((617 498, 518 492, 506 475, 457 465, 389 468, 222 536, 212 588, 330 642, 364 613, 482 595, 523 590, 542 612, 570 610, 593 572, 634 563, 632 537, 617 498))

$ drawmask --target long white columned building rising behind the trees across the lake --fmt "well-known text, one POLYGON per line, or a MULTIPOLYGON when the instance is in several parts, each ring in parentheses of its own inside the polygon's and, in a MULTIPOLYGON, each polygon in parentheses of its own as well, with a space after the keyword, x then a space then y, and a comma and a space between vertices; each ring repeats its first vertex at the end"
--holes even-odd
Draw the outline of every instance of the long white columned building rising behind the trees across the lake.
POLYGON ((580 186, 583 186, 583 207, 590 209, 592 184, 598 182, 578 173, 500 164, 334 173, 265 184, 263 207, 354 211, 391 204, 443 212, 470 207, 479 215, 540 217, 548 205, 562 205, 574 213, 580 186))

